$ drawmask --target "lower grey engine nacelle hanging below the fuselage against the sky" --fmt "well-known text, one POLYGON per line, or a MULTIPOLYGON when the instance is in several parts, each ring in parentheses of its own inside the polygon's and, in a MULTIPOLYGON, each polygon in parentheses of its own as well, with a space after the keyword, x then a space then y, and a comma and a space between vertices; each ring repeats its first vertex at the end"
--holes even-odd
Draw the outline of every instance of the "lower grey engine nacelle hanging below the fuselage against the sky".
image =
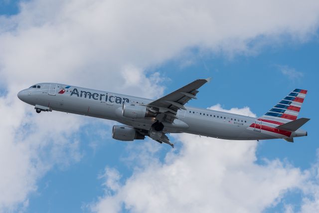
POLYGON ((133 127, 115 125, 112 129, 112 138, 120 141, 144 140, 145 136, 133 127))

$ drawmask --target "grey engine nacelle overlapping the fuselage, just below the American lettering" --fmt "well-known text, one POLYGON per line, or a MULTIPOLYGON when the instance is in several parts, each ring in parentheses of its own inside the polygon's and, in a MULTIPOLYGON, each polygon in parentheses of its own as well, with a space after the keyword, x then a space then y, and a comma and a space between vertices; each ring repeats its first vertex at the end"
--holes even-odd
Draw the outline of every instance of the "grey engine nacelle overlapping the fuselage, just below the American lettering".
POLYGON ((122 115, 126 118, 152 118, 156 114, 148 107, 139 104, 123 104, 122 115))

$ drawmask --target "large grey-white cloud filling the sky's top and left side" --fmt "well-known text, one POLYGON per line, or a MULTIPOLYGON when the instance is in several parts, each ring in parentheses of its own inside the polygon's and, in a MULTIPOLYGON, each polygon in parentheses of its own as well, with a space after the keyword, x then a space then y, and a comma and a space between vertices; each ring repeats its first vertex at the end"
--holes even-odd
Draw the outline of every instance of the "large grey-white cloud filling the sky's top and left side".
POLYGON ((0 97, 0 211, 27 204, 36 181, 53 164, 81 158, 72 133, 83 118, 31 114, 17 100, 18 90, 61 82, 160 96, 163 76, 148 68, 194 46, 234 54, 254 52, 282 35, 307 40, 318 28, 319 1, 30 0, 20 9, 0 16, 0 89, 7 91, 0 97), (65 128, 67 123, 75 125, 65 128), (47 153, 48 159, 41 156, 47 153))

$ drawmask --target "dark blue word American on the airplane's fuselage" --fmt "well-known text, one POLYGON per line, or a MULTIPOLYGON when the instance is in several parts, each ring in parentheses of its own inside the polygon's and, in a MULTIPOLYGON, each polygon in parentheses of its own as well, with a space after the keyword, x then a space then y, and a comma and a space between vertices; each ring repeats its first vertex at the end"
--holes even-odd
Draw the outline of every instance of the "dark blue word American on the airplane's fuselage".
POLYGON ((87 91, 83 91, 83 90, 81 90, 79 92, 77 88, 74 88, 72 90, 70 96, 72 96, 72 95, 76 95, 77 97, 80 97, 80 98, 88 98, 88 99, 92 98, 93 100, 100 100, 100 101, 105 101, 105 102, 109 102, 109 103, 117 103, 117 104, 123 104, 125 102, 127 102, 127 103, 130 102, 130 100, 128 98, 114 96, 114 95, 109 96, 108 94, 91 93, 91 92, 87 92, 87 91))

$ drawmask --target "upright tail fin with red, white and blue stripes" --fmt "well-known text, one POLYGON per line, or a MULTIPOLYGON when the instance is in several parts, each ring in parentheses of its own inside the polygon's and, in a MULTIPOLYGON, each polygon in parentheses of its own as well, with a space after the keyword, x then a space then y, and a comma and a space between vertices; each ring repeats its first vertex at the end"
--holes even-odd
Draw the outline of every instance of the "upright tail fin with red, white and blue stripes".
POLYGON ((295 89, 260 119, 278 125, 296 120, 306 94, 307 90, 295 89))

